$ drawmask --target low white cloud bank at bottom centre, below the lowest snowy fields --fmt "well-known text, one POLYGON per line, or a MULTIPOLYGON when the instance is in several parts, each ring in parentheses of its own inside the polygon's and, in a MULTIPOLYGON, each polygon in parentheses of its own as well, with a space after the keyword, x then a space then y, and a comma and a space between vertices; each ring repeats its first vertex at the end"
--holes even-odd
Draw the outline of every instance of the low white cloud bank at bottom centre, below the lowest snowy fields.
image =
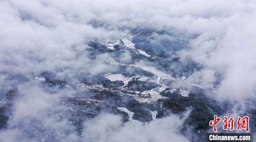
POLYGON ((133 122, 123 125, 121 117, 113 114, 102 114, 93 120, 86 122, 83 138, 89 142, 188 142, 178 134, 178 127, 184 119, 172 115, 158 119, 144 127, 133 122))

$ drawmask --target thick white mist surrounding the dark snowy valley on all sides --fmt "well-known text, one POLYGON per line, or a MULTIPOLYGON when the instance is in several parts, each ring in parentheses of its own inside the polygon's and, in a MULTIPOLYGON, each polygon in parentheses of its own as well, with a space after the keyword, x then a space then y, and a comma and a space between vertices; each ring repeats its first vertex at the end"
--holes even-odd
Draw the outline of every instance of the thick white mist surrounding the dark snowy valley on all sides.
MULTIPOLYGON (((142 127, 103 113, 86 122, 78 135, 61 104, 76 92, 77 74, 118 70, 105 62, 114 61, 108 53, 90 58, 88 41, 119 40, 133 28, 188 37, 189 48, 178 56, 203 70, 186 80, 212 82, 217 100, 254 100, 255 9, 253 0, 1 0, 0 94, 16 90, 17 95, 7 102, 12 118, 0 131, 0 141, 188 141, 178 132, 184 119, 176 115, 142 127), (34 76, 44 71, 68 78, 70 84, 63 90, 43 88, 34 76)), ((127 63, 131 55, 119 58, 127 63)))

